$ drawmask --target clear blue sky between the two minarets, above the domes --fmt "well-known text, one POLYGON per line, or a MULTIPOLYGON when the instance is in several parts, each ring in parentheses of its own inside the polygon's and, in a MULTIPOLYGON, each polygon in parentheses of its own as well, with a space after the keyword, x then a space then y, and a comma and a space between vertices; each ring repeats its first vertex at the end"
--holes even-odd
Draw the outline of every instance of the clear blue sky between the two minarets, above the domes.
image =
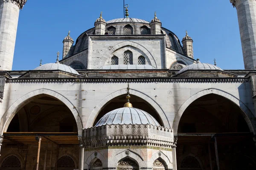
MULTIPOLYGON (((244 69, 236 8, 229 0, 125 0, 129 17, 150 21, 154 11, 162 26, 182 40, 186 30, 194 41, 194 57, 222 69, 244 69)), ((56 61, 70 30, 76 38, 103 12, 108 21, 123 17, 122 0, 28 0, 17 30, 13 70, 32 70, 56 61)))

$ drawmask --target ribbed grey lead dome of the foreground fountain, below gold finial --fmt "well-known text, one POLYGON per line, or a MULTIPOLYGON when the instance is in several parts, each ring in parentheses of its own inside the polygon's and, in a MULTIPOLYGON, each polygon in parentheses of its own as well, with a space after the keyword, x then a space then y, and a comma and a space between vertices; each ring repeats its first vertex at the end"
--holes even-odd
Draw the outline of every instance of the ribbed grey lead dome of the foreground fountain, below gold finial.
POLYGON ((96 126, 102 125, 154 125, 160 126, 153 116, 137 108, 118 108, 105 114, 96 126))

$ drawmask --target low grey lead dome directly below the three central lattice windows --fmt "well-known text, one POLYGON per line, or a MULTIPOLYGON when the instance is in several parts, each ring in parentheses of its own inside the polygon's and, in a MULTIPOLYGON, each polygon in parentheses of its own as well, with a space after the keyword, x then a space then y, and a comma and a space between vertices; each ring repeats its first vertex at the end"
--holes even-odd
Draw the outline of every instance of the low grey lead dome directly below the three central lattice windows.
POLYGON ((152 65, 104 65, 103 67, 100 67, 99 70, 145 70, 145 69, 156 69, 152 65))

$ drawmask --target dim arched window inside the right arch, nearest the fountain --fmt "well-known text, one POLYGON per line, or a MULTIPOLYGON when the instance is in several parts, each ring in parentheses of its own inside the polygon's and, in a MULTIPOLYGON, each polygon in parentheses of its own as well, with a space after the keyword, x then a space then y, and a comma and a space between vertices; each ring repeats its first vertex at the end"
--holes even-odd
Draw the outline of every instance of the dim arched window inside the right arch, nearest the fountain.
POLYGON ((187 156, 180 165, 180 170, 201 170, 199 161, 194 156, 187 156))

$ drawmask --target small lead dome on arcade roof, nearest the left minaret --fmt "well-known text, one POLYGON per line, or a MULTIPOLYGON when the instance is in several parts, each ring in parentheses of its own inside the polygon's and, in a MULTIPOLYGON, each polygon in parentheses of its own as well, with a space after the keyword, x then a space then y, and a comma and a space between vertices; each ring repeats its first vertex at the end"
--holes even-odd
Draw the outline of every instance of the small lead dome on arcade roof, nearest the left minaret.
POLYGON ((68 73, 79 75, 79 73, 76 70, 74 70, 73 68, 71 68, 70 66, 61 64, 59 62, 40 65, 39 67, 35 68, 34 70, 61 70, 61 71, 65 71, 68 73))

